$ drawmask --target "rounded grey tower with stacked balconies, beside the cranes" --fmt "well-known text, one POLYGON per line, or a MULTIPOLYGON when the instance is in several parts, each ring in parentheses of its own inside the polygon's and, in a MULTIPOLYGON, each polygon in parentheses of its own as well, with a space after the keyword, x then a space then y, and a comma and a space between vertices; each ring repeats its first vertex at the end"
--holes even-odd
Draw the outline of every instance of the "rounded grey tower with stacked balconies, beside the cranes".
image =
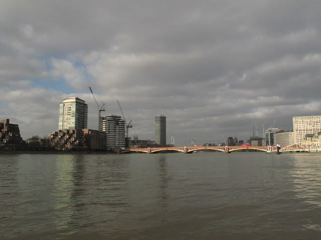
POLYGON ((106 132, 107 149, 117 150, 126 146, 126 126, 121 116, 108 115, 102 118, 102 130, 106 132))

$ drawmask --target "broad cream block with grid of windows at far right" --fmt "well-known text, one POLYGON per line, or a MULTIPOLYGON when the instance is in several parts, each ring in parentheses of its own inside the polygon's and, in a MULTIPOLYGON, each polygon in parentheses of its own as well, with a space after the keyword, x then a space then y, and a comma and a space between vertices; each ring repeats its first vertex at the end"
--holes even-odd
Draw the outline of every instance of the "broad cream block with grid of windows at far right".
POLYGON ((293 143, 300 143, 306 134, 317 134, 319 131, 321 131, 321 115, 293 117, 293 143))

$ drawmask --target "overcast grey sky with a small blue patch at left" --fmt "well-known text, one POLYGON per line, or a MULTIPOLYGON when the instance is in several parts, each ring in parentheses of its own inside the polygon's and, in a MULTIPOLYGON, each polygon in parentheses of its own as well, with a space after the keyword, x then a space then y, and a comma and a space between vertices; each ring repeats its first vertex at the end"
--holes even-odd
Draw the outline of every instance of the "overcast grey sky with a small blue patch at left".
POLYGON ((1 0, 0 118, 24 139, 58 129, 59 102, 132 120, 129 136, 246 141, 321 114, 320 0, 1 0))

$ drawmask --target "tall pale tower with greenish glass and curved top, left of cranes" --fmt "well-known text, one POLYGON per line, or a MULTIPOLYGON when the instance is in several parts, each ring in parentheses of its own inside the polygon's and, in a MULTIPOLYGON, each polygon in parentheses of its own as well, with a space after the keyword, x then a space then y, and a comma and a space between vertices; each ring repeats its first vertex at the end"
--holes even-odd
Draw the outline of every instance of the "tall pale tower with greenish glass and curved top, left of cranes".
POLYGON ((68 97, 59 105, 59 129, 87 128, 88 105, 78 97, 68 97))

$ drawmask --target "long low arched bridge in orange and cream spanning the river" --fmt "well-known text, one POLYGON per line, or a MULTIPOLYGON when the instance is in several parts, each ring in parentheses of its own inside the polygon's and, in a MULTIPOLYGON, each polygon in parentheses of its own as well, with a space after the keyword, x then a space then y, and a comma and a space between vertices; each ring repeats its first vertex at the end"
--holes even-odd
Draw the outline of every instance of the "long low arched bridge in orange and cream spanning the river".
POLYGON ((179 151, 192 153, 201 150, 215 150, 222 152, 231 152, 237 150, 258 150, 258 151, 276 151, 276 146, 168 146, 168 147, 147 147, 147 148, 122 148, 120 153, 125 152, 144 152, 157 153, 160 151, 179 151))

